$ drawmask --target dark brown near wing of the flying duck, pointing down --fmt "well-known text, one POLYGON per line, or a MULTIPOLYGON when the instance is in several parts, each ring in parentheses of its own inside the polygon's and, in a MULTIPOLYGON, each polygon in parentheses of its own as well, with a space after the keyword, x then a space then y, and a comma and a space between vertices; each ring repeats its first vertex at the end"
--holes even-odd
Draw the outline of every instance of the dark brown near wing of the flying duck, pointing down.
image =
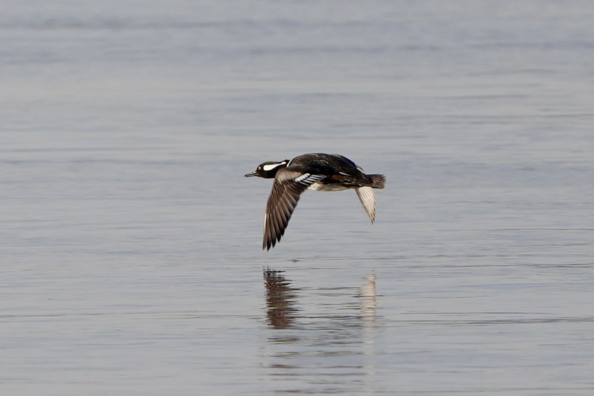
POLYGON ((270 250, 285 234, 289 219, 297 206, 299 196, 312 183, 326 178, 324 175, 280 169, 274 178, 272 192, 264 215, 264 242, 262 249, 270 250))

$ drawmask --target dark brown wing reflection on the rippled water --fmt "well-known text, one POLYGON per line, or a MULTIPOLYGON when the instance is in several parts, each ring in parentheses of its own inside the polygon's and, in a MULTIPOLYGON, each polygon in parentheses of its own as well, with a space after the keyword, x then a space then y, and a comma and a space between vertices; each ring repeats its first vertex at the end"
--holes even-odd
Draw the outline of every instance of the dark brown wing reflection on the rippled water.
POLYGON ((268 324, 276 329, 284 329, 295 319, 297 309, 293 306, 296 297, 290 282, 281 275, 283 271, 264 270, 264 285, 266 286, 266 316, 268 324))

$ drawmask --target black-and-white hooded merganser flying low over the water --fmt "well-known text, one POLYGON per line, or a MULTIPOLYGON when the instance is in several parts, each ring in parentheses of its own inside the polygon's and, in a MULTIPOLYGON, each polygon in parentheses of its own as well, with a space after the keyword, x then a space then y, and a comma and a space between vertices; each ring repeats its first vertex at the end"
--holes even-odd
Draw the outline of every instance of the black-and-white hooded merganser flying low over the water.
POLYGON ((289 219, 306 189, 340 191, 354 188, 366 213, 375 221, 375 194, 373 188, 384 188, 383 175, 365 175, 353 161, 338 154, 304 154, 292 160, 268 161, 245 175, 272 179, 274 184, 266 204, 264 216, 264 243, 262 249, 270 250, 285 234, 289 219))

